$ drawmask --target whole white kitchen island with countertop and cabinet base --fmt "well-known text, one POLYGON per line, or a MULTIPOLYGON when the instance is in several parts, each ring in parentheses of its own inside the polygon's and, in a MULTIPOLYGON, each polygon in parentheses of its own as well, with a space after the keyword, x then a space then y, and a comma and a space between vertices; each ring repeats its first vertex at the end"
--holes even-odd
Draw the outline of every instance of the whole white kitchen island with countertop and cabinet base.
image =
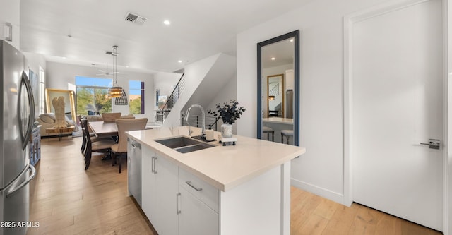
POLYGON ((188 133, 127 133, 142 146, 141 207, 159 234, 290 234, 290 160, 304 147, 234 135, 237 145, 182 153, 155 141, 188 133))

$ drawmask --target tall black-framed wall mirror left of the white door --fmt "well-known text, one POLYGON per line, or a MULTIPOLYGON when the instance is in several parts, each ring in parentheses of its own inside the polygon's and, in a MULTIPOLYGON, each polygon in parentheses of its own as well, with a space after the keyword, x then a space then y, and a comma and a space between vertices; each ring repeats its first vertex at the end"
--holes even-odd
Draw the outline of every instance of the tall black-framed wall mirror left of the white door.
POLYGON ((257 44, 257 138, 299 146, 299 30, 257 44))

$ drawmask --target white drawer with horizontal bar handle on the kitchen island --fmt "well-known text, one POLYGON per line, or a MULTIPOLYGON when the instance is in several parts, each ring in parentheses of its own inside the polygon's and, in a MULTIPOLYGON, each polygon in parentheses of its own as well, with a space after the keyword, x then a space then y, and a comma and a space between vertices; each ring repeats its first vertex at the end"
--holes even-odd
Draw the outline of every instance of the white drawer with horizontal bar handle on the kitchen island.
POLYGON ((189 191, 194 197, 198 198, 204 204, 208 205, 212 210, 218 213, 218 201, 220 199, 220 191, 199 179, 194 174, 181 169, 179 167, 179 186, 189 191))

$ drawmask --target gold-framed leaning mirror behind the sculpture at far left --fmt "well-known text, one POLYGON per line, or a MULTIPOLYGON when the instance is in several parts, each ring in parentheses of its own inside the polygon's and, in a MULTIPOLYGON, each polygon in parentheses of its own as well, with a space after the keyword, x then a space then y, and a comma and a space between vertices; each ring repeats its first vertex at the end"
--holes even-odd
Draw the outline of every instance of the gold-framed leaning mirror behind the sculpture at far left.
POLYGON ((64 114, 71 119, 76 120, 76 105, 74 102, 74 92, 73 90, 58 90, 58 89, 45 89, 45 104, 47 113, 55 113, 55 109, 52 105, 52 100, 54 97, 64 97, 64 102, 66 103, 64 107, 64 114))

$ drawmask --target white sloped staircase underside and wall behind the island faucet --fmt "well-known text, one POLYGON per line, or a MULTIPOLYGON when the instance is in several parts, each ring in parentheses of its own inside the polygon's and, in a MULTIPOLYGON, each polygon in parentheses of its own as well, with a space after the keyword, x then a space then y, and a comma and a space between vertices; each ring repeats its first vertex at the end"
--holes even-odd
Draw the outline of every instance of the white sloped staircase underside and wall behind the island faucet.
MULTIPOLYGON (((162 126, 181 126, 182 116, 191 104, 200 104, 207 115, 208 109, 218 102, 236 99, 236 59, 226 54, 215 54, 184 68, 184 74, 168 97, 165 106, 157 112, 156 121, 162 126), (234 82, 232 85, 228 85, 234 82), (227 88, 226 93, 222 92, 227 88)), ((201 112, 194 116, 199 116, 201 112)))

